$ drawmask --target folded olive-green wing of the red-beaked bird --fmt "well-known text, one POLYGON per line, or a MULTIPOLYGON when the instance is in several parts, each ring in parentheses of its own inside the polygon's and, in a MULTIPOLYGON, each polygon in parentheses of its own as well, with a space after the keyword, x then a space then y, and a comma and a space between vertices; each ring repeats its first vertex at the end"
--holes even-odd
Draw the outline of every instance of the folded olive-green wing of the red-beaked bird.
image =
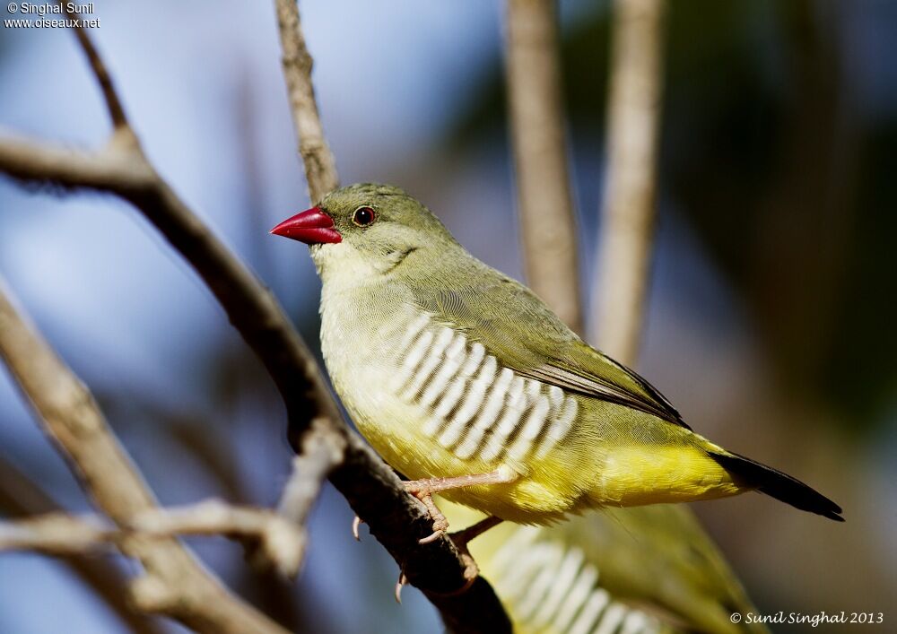
POLYGON ((412 284, 417 308, 464 331, 522 376, 690 429, 648 381, 584 343, 533 291, 477 264, 448 274, 438 286, 432 280, 412 284))

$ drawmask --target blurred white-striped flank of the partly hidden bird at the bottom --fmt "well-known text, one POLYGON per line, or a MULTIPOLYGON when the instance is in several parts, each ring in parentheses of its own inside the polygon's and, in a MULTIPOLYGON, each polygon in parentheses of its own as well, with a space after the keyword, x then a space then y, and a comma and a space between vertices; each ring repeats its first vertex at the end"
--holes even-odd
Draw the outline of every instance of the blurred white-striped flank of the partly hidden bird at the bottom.
POLYGON ((488 569, 520 631, 636 634, 662 630, 653 617, 614 602, 598 586, 598 570, 581 549, 540 540, 545 530, 518 528, 495 553, 488 569))

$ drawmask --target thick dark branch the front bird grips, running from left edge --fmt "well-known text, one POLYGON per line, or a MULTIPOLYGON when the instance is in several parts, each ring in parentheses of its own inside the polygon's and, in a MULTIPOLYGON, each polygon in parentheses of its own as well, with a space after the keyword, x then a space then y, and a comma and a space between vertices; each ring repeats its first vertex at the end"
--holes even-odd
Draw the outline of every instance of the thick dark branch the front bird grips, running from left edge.
MULTIPOLYGON (((300 26, 298 19, 281 23, 284 28, 300 26)), ((296 76, 309 80, 308 73, 296 76)), ((310 86, 305 91, 310 94, 310 86)), ((455 545, 445 536, 434 543, 418 543, 431 533, 429 515, 405 492, 396 474, 349 430, 318 365, 274 296, 152 168, 130 128, 118 130, 105 149, 91 153, 0 139, 0 170, 16 178, 113 193, 144 213, 200 275, 274 379, 286 404, 293 446, 302 446, 314 420, 320 438, 330 445, 327 455, 344 456, 341 464, 329 465, 330 481, 386 546, 409 582, 436 605, 448 628, 510 630, 507 614, 483 578, 466 592, 453 594, 466 585, 466 562, 455 545), (115 161, 122 165, 113 168, 110 163, 115 161), (85 178, 79 180, 81 176, 85 178)), ((320 184, 313 170, 308 176, 309 183, 320 184)), ((159 589, 151 585, 147 592, 154 587, 159 589)))

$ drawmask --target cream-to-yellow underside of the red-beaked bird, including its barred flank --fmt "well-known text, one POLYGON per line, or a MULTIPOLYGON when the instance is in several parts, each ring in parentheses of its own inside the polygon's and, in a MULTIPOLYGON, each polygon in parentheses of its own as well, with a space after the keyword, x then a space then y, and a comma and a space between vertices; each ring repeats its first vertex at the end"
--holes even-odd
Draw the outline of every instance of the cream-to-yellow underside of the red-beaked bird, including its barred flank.
POLYGON ((396 319, 364 345, 345 336, 322 331, 327 369, 361 434, 396 471, 412 480, 518 476, 444 493, 458 503, 545 524, 588 507, 737 492, 692 432, 521 377, 426 314, 396 319))

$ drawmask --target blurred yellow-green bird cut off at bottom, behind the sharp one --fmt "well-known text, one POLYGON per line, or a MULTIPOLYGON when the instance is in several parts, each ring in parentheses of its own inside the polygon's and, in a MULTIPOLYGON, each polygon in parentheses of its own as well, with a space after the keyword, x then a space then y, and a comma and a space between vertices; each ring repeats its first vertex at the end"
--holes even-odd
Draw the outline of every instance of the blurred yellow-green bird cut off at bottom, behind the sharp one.
MULTIPOLYGON (((446 500, 453 524, 482 515, 446 500)), ((520 634, 766 633, 684 505, 605 509, 553 526, 503 524, 470 543, 520 634), (741 618, 732 618, 737 614, 741 618)))

